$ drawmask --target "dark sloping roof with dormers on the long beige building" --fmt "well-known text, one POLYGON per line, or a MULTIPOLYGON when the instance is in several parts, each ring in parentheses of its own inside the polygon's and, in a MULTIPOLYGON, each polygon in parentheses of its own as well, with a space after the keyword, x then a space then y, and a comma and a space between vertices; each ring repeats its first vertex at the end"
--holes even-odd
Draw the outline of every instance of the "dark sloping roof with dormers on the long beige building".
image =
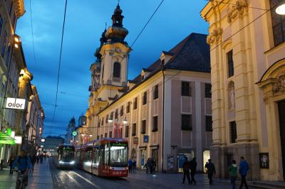
MULTIPOLYGON (((187 70, 193 72, 210 72, 211 70, 209 45, 207 44, 207 35, 205 34, 191 33, 185 39, 180 41, 180 43, 175 45, 175 47, 170 51, 162 52, 167 55, 172 55, 172 58, 165 64, 165 70, 187 70)), ((128 92, 134 90, 136 87, 142 84, 142 82, 145 82, 157 72, 162 70, 160 59, 156 60, 154 63, 152 63, 152 65, 144 69, 147 70, 147 72, 150 72, 150 74, 147 75, 147 77, 145 77, 143 80, 140 74, 135 77, 135 79, 128 80, 129 82, 135 83, 135 85, 129 91, 125 90, 125 93, 118 99, 122 98, 128 94, 128 92)), ((123 91, 124 90, 121 90, 120 92, 123 91)), ((103 112, 105 109, 117 102, 118 99, 115 99, 100 112, 103 112)))

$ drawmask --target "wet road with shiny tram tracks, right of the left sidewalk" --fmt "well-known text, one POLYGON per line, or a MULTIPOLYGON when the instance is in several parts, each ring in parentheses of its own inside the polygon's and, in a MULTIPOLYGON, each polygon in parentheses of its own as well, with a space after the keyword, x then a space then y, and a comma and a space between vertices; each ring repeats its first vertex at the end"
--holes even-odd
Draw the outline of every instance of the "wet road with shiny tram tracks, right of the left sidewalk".
MULTIPOLYGON (((50 161, 53 188, 231 188, 229 183, 214 183, 209 186, 206 175, 197 175, 197 185, 182 184, 182 175, 178 173, 145 174, 137 171, 128 178, 103 178, 91 175, 78 168, 58 169, 50 161)), ((187 183, 187 182, 186 182, 187 183)))

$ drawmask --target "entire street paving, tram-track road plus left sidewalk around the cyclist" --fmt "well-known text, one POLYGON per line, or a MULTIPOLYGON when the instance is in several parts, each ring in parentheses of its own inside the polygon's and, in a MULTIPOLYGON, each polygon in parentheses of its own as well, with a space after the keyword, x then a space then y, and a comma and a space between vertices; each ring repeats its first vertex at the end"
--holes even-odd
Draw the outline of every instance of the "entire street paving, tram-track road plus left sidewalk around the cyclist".
MULTIPOLYGON (((6 168, 0 171, 0 189, 15 188, 16 174, 9 175, 6 168)), ((209 186, 207 175, 196 176, 197 185, 188 185, 187 180, 182 184, 180 173, 156 173, 145 174, 145 171, 137 171, 128 178, 102 178, 91 175, 77 168, 58 169, 51 159, 36 164, 34 172, 29 174, 27 189, 69 189, 69 188, 231 188, 228 182, 216 182, 209 186)), ((215 180, 214 180, 215 181, 215 180)))

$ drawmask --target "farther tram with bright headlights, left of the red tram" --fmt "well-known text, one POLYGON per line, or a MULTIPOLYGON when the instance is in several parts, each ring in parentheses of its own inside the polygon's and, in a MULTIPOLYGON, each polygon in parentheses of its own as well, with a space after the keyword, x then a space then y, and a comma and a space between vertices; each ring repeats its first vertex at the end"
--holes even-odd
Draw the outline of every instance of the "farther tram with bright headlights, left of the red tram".
POLYGON ((75 166, 74 158, 75 147, 72 144, 61 144, 58 146, 57 154, 54 157, 58 168, 71 168, 75 166))

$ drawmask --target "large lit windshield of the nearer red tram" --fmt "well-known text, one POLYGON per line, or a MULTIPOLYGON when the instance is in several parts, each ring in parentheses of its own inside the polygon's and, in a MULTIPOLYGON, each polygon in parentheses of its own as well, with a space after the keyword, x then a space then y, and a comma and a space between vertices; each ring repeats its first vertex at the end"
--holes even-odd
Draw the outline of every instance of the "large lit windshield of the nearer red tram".
POLYGON ((128 163, 127 144, 111 144, 110 145, 110 164, 125 165, 128 163))

